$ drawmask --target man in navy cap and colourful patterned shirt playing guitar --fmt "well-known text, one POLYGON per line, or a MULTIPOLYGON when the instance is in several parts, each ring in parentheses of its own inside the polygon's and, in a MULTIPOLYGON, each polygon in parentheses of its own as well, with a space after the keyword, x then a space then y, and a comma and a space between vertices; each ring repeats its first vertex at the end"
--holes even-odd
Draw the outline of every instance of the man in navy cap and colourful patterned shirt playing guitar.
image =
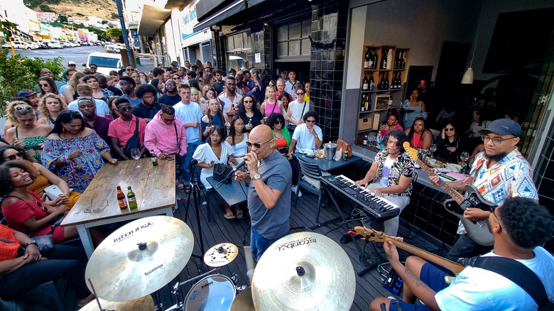
MULTIPOLYGON (((508 197, 527 197, 538 200, 538 193, 533 183, 533 170, 516 145, 521 136, 521 126, 511 119, 498 119, 489 124, 487 129, 479 131, 484 141, 485 150, 475 156, 469 178, 447 182, 450 187, 466 191, 465 185, 471 184, 491 204, 501 205, 508 197)), ((436 173, 429 176, 433 185, 438 186, 440 178, 436 173)), ((464 217, 471 221, 487 219, 491 212, 479 208, 468 208, 464 217)), ((459 239, 446 258, 457 261, 458 258, 478 256, 490 251, 489 246, 475 243, 460 222, 459 239)))

